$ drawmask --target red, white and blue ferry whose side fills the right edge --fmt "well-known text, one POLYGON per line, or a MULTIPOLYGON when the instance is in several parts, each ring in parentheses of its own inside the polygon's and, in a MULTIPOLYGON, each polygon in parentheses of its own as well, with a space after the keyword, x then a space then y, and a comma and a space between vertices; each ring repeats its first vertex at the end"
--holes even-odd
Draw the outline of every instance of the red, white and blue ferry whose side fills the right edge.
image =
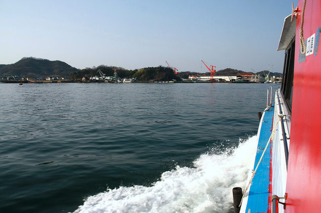
POLYGON ((283 82, 267 95, 246 186, 233 189, 237 213, 321 212, 321 0, 299 0, 284 19, 278 50, 283 82))

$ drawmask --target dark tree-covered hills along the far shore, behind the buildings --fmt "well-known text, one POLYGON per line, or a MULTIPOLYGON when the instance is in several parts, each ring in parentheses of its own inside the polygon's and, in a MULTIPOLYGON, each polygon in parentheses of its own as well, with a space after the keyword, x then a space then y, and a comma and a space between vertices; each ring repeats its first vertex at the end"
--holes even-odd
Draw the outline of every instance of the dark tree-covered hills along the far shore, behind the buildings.
MULTIPOLYGON (((23 79, 23 80, 54 80, 64 79, 71 82, 79 82, 83 79, 89 79, 90 77, 99 75, 98 70, 104 73, 106 76, 113 76, 116 71, 120 78, 134 78, 137 81, 182 81, 182 79, 188 79, 189 76, 196 75, 210 75, 210 72, 199 73, 184 71, 174 74, 173 69, 165 66, 157 67, 145 67, 134 70, 124 69, 122 67, 99 65, 97 67, 87 67, 84 69, 77 69, 72 67, 63 61, 49 61, 47 59, 39 59, 34 57, 24 57, 21 60, 13 64, 0 64, 0 79, 23 79)), ((260 71, 257 73, 244 72, 242 70, 226 68, 218 70, 215 76, 244 76, 244 75, 256 75, 263 76, 264 72, 268 70, 260 71)), ((280 77, 282 74, 278 72, 270 73, 270 76, 280 77)))

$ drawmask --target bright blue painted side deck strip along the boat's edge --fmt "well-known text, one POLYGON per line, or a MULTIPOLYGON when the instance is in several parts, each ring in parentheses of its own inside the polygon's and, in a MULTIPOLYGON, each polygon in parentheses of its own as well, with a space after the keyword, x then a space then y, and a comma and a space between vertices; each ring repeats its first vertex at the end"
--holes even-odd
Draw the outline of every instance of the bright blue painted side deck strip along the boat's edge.
MULTIPOLYGON (((262 118, 263 122, 261 125, 253 170, 256 168, 256 165, 261 158, 266 143, 268 142, 271 136, 273 114, 274 105, 272 105, 270 111, 265 112, 264 117, 262 118)), ((248 210, 250 210, 250 213, 266 213, 268 211, 271 160, 270 153, 271 146, 269 145, 253 178, 248 194, 245 213, 248 213, 248 210)))

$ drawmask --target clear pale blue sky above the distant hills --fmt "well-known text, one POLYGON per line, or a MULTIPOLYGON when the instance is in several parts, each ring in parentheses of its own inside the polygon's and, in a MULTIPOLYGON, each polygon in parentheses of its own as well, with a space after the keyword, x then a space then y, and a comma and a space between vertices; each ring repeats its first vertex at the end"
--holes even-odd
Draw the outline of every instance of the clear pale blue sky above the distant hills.
MULTIPOLYGON (((282 72, 290 0, 0 0, 0 64, 282 72)), ((294 1, 297 5, 297 0, 294 1)))

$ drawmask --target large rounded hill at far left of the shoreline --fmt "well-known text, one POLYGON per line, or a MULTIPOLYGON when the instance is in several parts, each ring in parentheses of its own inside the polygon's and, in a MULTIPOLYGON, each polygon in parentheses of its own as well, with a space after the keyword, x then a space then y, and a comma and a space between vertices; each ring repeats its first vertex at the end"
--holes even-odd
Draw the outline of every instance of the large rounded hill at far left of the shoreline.
POLYGON ((46 76, 68 77, 74 71, 78 71, 78 69, 63 61, 49 61, 33 57, 22 58, 20 61, 12 64, 0 65, 0 76, 17 75, 33 78, 46 76))

